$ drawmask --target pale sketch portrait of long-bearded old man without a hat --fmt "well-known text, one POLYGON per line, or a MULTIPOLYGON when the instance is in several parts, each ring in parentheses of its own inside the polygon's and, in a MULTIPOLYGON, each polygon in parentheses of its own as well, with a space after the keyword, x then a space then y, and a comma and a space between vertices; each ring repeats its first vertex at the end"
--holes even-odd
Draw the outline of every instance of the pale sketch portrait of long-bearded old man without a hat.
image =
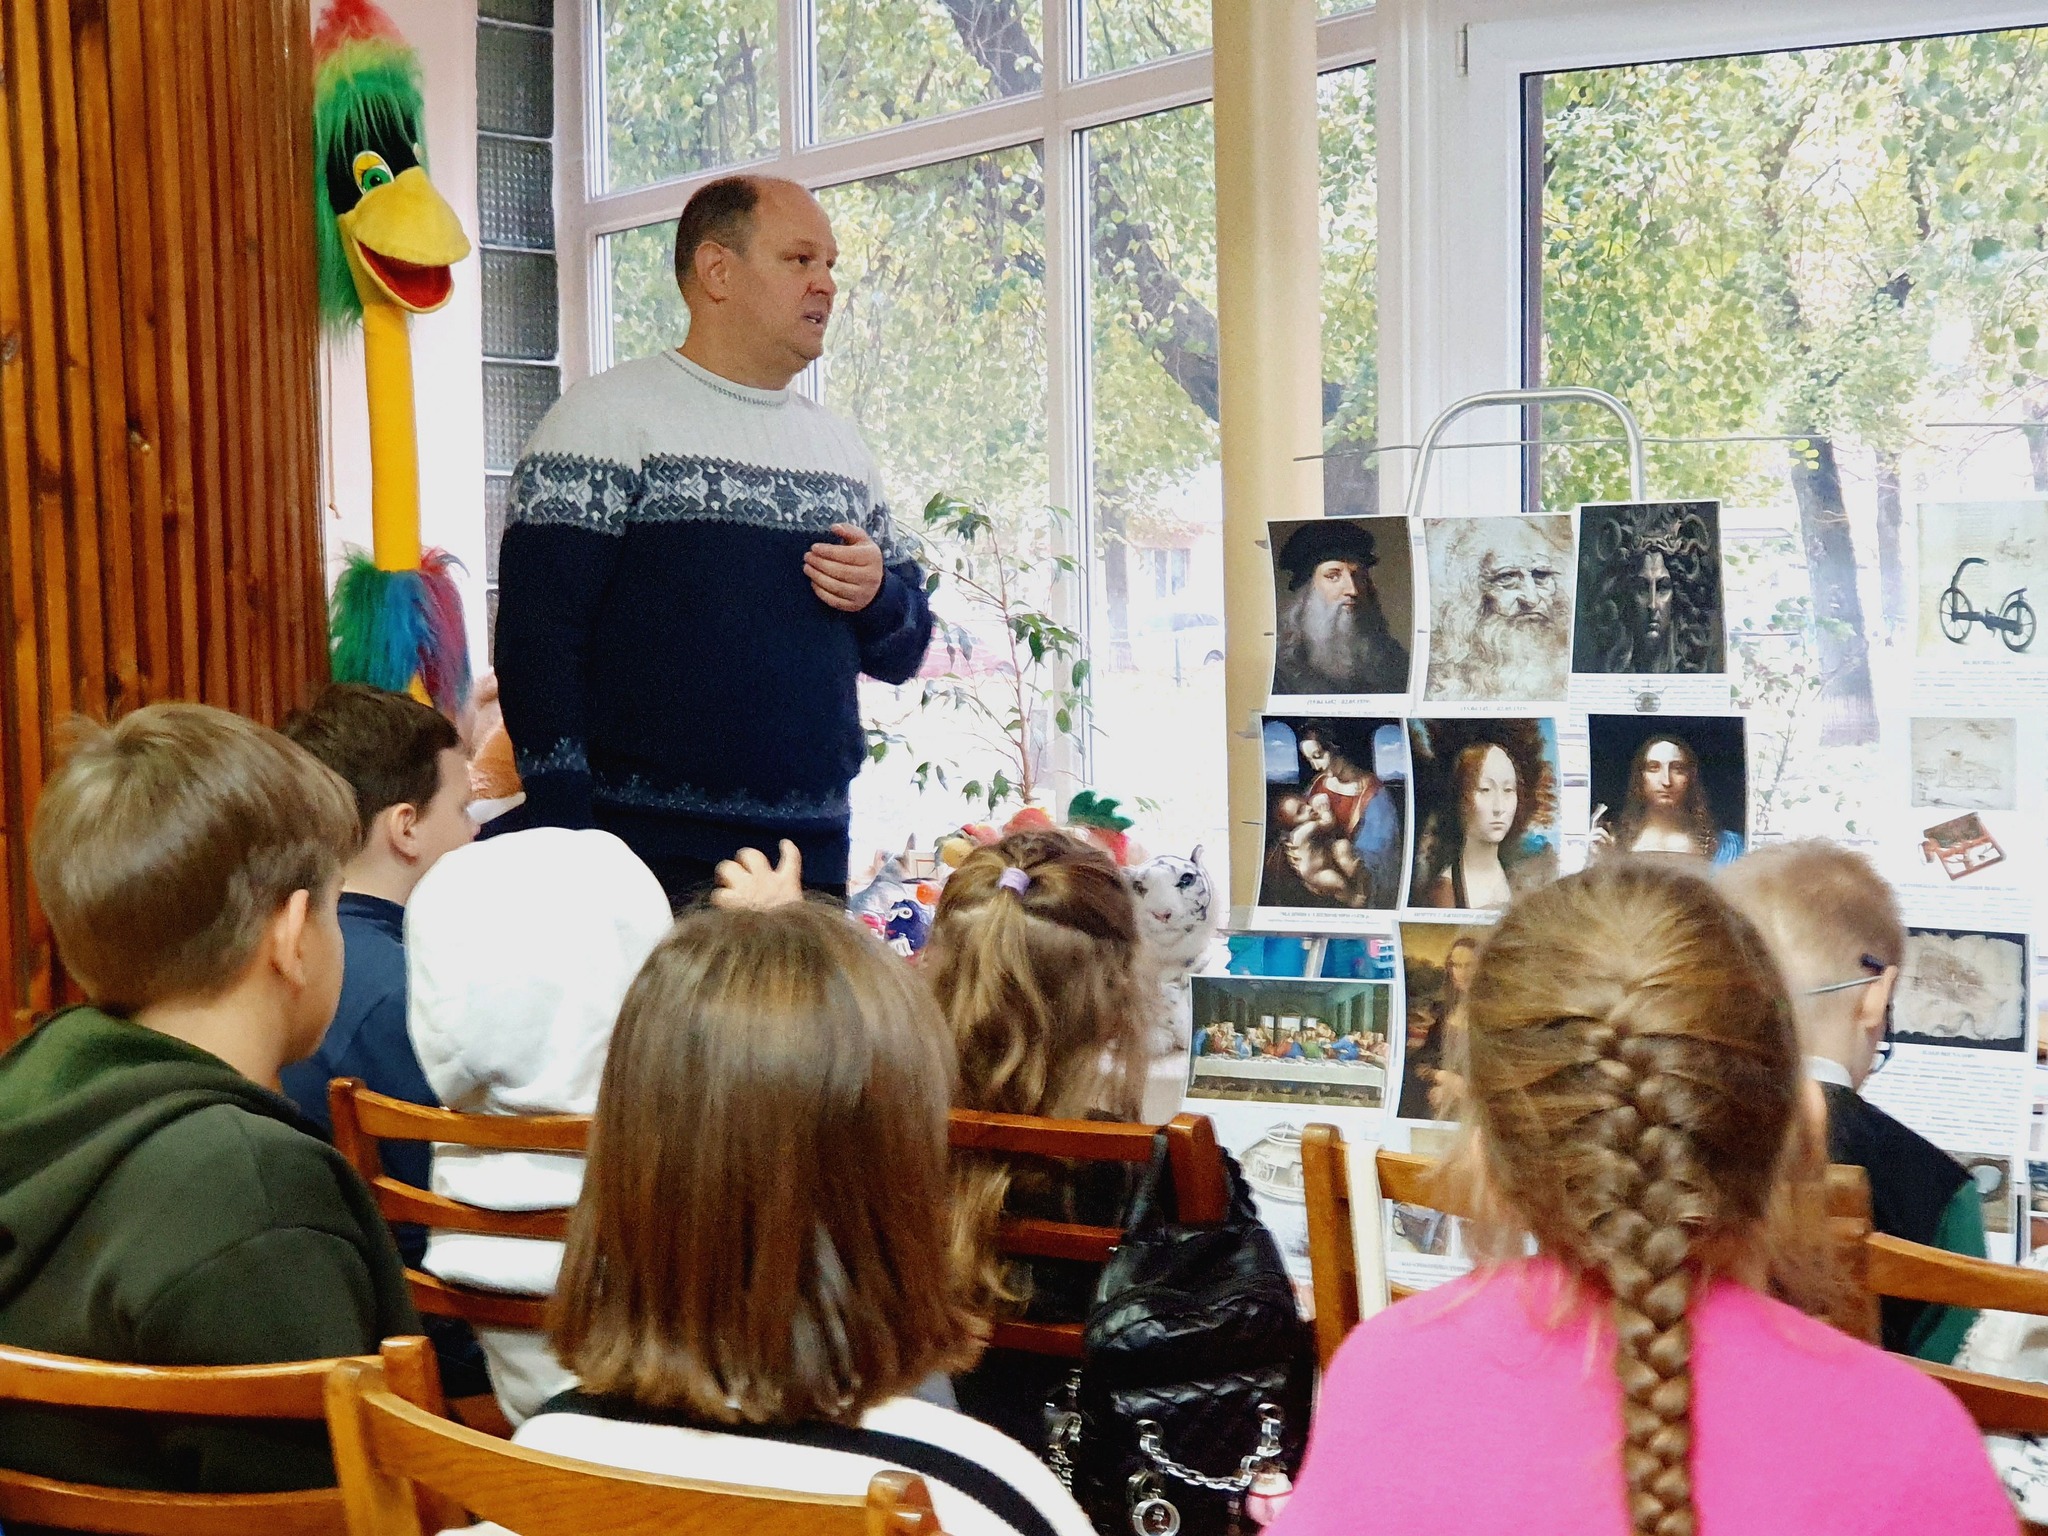
POLYGON ((1571 670, 1571 518, 1434 518, 1423 541, 1423 698, 1563 698, 1571 670))

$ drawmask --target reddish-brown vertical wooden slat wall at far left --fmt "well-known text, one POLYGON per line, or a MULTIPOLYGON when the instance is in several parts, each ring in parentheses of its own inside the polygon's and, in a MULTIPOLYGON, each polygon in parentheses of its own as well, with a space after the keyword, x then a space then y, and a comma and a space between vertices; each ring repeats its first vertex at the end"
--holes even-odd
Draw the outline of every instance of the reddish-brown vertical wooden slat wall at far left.
POLYGON ((72 713, 326 676, 307 0, 0 0, 0 1042, 72 713))

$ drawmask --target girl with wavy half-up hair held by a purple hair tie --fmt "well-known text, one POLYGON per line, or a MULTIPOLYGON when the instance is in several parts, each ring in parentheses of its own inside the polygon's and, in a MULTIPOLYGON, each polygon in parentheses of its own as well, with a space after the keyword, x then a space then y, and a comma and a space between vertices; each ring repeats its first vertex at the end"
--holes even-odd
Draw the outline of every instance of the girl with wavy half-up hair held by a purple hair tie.
MULTIPOLYGON (((1137 903, 1122 870, 1063 831, 1020 831, 977 848, 946 881, 922 969, 958 1051, 954 1104, 1055 1120, 1139 1118, 1157 1001, 1143 983, 1137 903)), ((1004 1210, 1118 1225, 1122 1169, 1077 1180, 1049 1161, 956 1155, 952 1257, 979 1315, 1077 1321, 1092 1266, 1004 1264, 1004 1210)), ((1038 1438, 1063 1362, 993 1354, 956 1378, 961 1407, 1038 1438)))

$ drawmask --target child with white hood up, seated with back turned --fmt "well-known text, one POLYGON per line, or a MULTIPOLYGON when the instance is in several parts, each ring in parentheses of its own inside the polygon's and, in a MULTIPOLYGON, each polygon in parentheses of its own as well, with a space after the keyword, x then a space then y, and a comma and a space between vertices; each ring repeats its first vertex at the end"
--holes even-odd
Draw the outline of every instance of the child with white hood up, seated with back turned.
MULTIPOLYGON (((463 1114, 590 1114, 612 1022, 670 928, 653 872, 608 831, 539 827, 446 854, 406 907, 414 1053, 463 1114)), ((575 1204, 584 1159, 436 1147, 432 1188, 489 1210, 575 1204)), ((453 1284, 547 1296, 561 1243, 434 1233, 453 1284)), ((477 1329, 512 1423, 571 1384, 541 1333, 477 1329)))

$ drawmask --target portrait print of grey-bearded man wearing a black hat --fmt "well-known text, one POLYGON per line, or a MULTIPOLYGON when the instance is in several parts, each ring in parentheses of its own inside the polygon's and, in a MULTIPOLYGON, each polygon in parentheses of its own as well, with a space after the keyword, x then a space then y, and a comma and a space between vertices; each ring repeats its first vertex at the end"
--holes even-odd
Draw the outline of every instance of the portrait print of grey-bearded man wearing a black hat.
MULTIPOLYGON (((1399 539, 1389 561, 1407 561, 1403 518, 1374 518, 1382 537, 1399 539)), ((1397 580, 1382 594, 1374 567, 1378 541, 1362 520, 1329 518, 1276 524, 1274 545, 1274 692, 1276 694, 1399 694, 1407 692, 1413 584, 1397 580), (1389 604, 1382 600, 1391 596, 1389 604), (1395 608, 1389 614, 1389 606, 1395 608), (1397 635, 1399 623, 1399 635, 1397 635)), ((1405 567, 1397 578, 1405 578, 1405 567)))

